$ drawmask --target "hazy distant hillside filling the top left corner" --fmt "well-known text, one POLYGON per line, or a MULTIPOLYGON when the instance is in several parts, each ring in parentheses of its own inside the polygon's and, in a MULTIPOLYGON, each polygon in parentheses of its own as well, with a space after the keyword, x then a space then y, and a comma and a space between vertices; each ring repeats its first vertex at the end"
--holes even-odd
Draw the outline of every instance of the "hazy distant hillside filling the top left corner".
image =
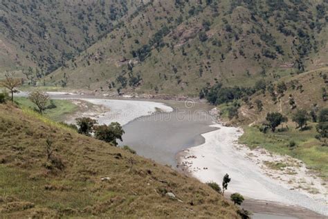
POLYGON ((38 77, 50 73, 109 33, 141 2, 3 0, 0 72, 33 67, 38 77))

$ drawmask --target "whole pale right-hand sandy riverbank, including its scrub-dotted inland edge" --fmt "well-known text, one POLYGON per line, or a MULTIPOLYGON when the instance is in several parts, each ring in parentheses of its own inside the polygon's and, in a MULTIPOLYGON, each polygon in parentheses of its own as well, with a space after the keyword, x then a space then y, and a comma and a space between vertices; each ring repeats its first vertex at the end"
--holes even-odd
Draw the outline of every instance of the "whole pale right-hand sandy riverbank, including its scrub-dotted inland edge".
POLYGON ((203 134, 205 143, 180 154, 180 165, 191 175, 201 182, 221 184, 228 173, 232 178, 228 186, 230 193, 238 192, 255 200, 298 205, 328 216, 327 186, 311 175, 301 161, 239 145, 237 140, 242 135, 239 128, 220 124, 212 127, 218 130, 203 134), (292 165, 278 171, 268 168, 265 161, 289 162, 292 165))

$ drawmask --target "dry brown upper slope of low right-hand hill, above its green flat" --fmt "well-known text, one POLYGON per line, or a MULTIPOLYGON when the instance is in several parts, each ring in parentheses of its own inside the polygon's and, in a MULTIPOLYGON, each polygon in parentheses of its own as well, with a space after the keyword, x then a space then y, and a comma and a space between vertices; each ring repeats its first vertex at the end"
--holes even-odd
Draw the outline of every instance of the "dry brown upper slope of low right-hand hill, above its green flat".
POLYGON ((278 80, 273 84, 273 93, 266 89, 264 94, 260 90, 250 96, 250 104, 244 103, 239 109, 239 121, 242 123, 261 123, 268 112, 280 112, 289 117, 297 109, 318 112, 319 109, 328 106, 327 76, 328 68, 322 68, 278 80), (286 90, 283 91, 283 94, 279 94, 278 85, 282 83, 286 85, 286 90), (256 100, 261 100, 263 104, 263 109, 260 112, 257 109, 256 100))

